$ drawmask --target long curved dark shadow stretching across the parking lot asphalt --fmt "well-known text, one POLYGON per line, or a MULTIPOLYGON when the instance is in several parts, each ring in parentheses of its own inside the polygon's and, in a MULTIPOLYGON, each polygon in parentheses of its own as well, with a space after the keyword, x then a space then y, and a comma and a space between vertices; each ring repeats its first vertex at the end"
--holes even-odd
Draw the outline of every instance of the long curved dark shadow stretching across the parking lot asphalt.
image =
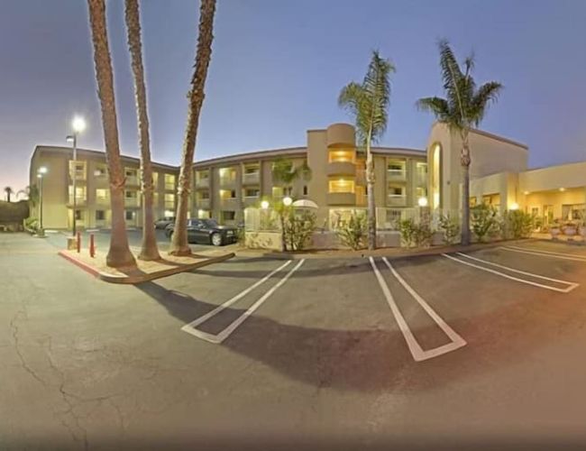
MULTIPOLYGON (((136 287, 185 324, 216 307, 154 282, 136 287)), ((236 318, 243 311, 226 308, 225 313, 236 318)), ((551 344, 555 327, 545 324, 543 318, 536 327, 531 317, 531 310, 519 308, 517 303, 477 317, 453 319, 450 326, 468 345, 424 362, 413 360, 392 317, 392 329, 328 330, 282 324, 257 314, 219 346, 316 389, 406 393, 434 390, 474 375, 501 371, 551 344), (499 323, 508 329, 495 336, 499 323), (511 337, 517 340, 511 343, 511 337)), ((417 336, 425 334, 426 329, 413 332, 417 336)), ((197 337, 186 335, 186 339, 197 337)))

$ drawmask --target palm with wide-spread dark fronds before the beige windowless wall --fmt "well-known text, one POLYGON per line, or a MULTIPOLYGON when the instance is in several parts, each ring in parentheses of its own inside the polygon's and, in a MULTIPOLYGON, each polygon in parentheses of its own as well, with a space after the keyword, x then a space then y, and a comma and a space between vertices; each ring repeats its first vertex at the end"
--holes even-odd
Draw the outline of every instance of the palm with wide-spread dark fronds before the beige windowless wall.
POLYGON ((463 68, 456 60, 450 44, 446 40, 438 43, 440 68, 444 82, 445 97, 425 97, 417 101, 423 111, 435 115, 438 121, 447 124, 450 131, 458 133, 462 139, 460 164, 462 165, 462 239, 464 245, 470 244, 470 163, 471 152, 468 133, 478 127, 487 112, 490 102, 496 102, 502 85, 489 81, 477 88, 472 69, 472 56, 463 61, 463 68))

